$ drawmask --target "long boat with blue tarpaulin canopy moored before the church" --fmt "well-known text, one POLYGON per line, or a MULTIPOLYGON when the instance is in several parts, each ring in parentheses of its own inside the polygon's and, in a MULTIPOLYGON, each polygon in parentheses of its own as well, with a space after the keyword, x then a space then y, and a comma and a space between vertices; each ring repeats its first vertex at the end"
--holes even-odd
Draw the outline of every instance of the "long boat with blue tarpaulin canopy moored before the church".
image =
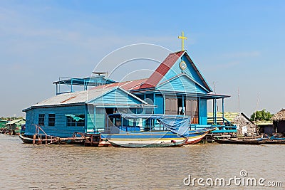
MULTIPOLYGON (((108 133, 100 134, 100 139, 114 147, 179 147, 188 139, 188 116, 112 114, 108 117, 110 121, 121 121, 120 125, 110 126, 108 133)), ((195 134, 198 137, 204 132, 195 131, 195 134)))

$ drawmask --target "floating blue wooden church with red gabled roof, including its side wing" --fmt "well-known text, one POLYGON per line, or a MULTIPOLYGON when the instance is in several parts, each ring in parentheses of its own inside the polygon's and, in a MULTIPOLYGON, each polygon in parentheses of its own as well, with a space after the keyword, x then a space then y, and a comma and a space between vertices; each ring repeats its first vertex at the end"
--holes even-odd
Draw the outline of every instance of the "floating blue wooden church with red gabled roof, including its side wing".
MULTIPOLYGON (((116 82, 104 73, 91 78, 58 80, 56 96, 23 110, 26 112, 26 135, 35 133, 39 125, 48 135, 71 137, 73 132, 110 132, 110 126, 134 124, 123 117, 109 117, 114 113, 189 115, 191 128, 217 126, 214 132, 237 132, 229 121, 217 117, 217 100, 229 95, 217 95, 193 63, 187 51, 170 53, 149 78, 116 82), (71 92, 61 93, 60 85, 71 85, 71 92), (73 85, 84 90, 73 92, 73 85), (88 89, 89 88, 89 89, 88 89), (207 117, 208 101, 213 116, 207 117)), ((136 124, 138 125, 138 124, 136 124)))

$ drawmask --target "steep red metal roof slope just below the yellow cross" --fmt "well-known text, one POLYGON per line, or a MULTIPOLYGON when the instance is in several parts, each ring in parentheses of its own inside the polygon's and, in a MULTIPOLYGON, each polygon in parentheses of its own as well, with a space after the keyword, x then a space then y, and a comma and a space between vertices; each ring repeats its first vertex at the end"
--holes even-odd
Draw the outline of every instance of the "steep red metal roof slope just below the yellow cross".
POLYGON ((154 88, 184 52, 185 51, 178 51, 175 53, 170 53, 170 55, 168 55, 167 58, 165 58, 165 60, 163 60, 162 63, 158 66, 155 72, 150 75, 150 78, 148 78, 145 83, 140 85, 140 89, 154 88))

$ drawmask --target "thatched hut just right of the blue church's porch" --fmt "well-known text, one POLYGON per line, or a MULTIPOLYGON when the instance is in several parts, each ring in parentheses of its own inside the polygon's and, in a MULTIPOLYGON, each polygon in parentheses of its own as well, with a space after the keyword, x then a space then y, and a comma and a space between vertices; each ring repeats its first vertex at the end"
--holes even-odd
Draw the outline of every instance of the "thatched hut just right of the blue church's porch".
MULTIPOLYGON (((211 118, 213 113, 208 113, 208 118, 211 118)), ((224 120, 222 119, 222 112, 217 112, 217 121, 218 122, 231 122, 234 125, 237 125, 237 135, 253 135, 258 133, 257 125, 254 124, 249 117, 243 112, 224 112, 224 120)), ((219 123, 217 123, 219 124, 219 123)))

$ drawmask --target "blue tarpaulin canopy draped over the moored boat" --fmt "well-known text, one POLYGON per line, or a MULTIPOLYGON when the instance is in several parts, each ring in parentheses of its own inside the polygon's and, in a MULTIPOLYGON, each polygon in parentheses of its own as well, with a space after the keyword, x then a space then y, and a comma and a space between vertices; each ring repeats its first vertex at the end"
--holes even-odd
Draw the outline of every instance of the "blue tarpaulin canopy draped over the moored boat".
POLYGON ((190 127, 190 116, 185 115, 160 115, 160 114, 110 114, 112 116, 121 116, 125 119, 152 119, 158 120, 168 130, 187 136, 190 127))

